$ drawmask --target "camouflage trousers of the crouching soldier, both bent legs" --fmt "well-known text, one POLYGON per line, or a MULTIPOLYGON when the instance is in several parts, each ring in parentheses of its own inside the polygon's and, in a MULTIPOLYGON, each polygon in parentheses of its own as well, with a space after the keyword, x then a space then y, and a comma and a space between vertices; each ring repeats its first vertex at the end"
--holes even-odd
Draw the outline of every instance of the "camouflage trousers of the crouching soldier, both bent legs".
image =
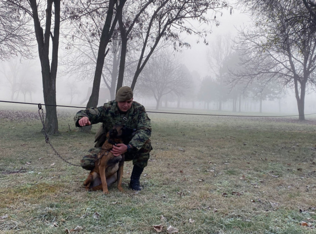
MULTIPOLYGON (((80 165, 83 169, 92 170, 94 169, 94 160, 97 158, 98 153, 101 151, 101 147, 95 147, 88 151, 88 154, 83 156, 82 160, 80 161, 80 165)), ((144 168, 147 166, 148 159, 149 159, 149 152, 153 148, 151 147, 150 139, 148 139, 143 147, 139 151, 131 151, 126 152, 125 161, 133 161, 133 165, 137 165, 140 168, 144 168)))

